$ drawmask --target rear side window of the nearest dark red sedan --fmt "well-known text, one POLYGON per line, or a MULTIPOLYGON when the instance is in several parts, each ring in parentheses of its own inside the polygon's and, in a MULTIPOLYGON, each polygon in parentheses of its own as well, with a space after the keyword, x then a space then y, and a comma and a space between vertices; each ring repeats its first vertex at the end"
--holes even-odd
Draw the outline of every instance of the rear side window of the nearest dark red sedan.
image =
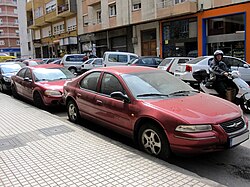
POLYGON ((87 90, 96 91, 100 75, 100 72, 90 73, 81 80, 80 87, 87 90))

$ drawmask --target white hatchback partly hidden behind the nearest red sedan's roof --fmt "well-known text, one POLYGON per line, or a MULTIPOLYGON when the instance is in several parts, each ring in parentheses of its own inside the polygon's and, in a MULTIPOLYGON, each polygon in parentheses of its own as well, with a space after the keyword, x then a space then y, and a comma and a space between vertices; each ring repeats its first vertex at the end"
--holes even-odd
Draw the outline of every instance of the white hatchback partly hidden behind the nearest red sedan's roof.
POLYGON ((187 63, 194 59, 193 57, 167 57, 162 60, 158 68, 174 74, 179 64, 187 63))

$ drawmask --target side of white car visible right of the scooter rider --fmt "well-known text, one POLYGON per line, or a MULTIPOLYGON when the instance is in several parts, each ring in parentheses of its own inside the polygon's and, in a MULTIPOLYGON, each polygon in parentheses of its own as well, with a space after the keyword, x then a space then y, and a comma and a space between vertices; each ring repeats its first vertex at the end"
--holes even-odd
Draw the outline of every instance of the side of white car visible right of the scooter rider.
POLYGON ((240 77, 250 82, 250 68, 249 66, 242 60, 234 58, 234 57, 224 57, 223 61, 226 63, 226 65, 231 69, 231 71, 236 70, 239 71, 240 77), (244 64, 245 67, 244 67, 244 64))

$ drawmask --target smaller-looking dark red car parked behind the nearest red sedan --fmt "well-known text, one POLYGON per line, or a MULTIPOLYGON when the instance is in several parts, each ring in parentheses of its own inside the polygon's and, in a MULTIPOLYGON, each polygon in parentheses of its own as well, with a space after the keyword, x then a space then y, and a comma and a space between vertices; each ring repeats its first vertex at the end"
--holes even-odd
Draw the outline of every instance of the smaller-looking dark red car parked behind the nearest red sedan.
POLYGON ((62 102, 63 85, 73 77, 61 65, 26 66, 11 77, 11 90, 14 97, 25 97, 37 107, 44 108, 62 102))

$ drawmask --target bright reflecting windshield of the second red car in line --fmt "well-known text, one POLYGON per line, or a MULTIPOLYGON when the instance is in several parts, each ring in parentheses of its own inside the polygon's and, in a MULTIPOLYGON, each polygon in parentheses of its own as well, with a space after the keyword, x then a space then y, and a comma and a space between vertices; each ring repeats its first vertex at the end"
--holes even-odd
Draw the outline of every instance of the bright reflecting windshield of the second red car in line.
POLYGON ((35 81, 72 79, 74 75, 65 68, 38 68, 33 70, 35 81))

